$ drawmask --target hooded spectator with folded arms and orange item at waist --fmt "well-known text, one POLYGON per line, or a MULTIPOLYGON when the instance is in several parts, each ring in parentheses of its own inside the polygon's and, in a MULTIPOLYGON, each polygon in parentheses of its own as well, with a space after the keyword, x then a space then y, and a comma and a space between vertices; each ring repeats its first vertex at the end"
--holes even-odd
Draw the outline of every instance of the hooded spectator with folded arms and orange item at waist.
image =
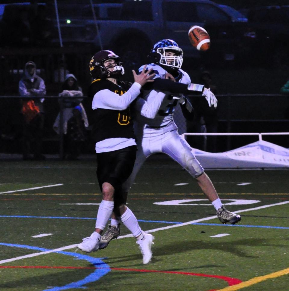
POLYGON ((35 98, 46 94, 45 83, 36 76, 33 61, 25 64, 24 76, 19 82, 22 99, 23 123, 23 159, 45 160, 42 155, 42 135, 44 125, 44 98, 35 98), (30 155, 33 153, 33 157, 30 155))

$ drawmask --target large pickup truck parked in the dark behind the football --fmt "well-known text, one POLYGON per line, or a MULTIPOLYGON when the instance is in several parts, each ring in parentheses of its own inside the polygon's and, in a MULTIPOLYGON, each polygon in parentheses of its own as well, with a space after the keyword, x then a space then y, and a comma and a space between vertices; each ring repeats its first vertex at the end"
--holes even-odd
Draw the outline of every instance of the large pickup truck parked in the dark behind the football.
MULTIPOLYGON (((98 4, 97 11, 108 4, 98 4)), ((184 57, 203 58, 210 62, 243 62, 254 35, 247 19, 228 6, 208 0, 126 0, 120 6, 106 6, 98 17, 99 35, 95 44, 114 49, 126 64, 144 61, 159 39, 175 40, 184 57), (106 17, 106 18, 105 18, 106 17), (192 25, 204 27, 211 37, 207 52, 199 52, 188 41, 192 25)))

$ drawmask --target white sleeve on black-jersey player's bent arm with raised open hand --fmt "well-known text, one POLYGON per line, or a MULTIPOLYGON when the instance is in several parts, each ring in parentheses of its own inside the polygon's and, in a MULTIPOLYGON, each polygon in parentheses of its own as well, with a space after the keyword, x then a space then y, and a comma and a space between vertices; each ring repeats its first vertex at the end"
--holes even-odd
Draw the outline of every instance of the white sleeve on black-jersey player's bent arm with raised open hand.
POLYGON ((133 83, 129 90, 123 95, 118 95, 109 89, 98 91, 92 100, 92 109, 103 108, 112 110, 124 110, 139 95, 141 85, 133 83))

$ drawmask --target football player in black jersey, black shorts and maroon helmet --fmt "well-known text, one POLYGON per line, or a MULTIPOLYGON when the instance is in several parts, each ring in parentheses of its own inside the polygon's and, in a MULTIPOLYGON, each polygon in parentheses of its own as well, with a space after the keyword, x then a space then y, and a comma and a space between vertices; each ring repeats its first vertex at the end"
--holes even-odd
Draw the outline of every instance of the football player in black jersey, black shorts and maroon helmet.
POLYGON ((135 80, 133 84, 119 81, 118 77, 124 74, 124 68, 120 57, 108 50, 97 52, 89 63, 89 69, 94 78, 89 86, 88 96, 92 99, 92 135, 97 153, 97 178, 102 201, 95 231, 77 247, 85 252, 98 250, 101 234, 114 211, 137 239, 143 263, 147 264, 151 260, 154 237, 141 230, 136 217, 125 206, 126 197, 121 197, 120 190, 121 184, 132 172, 136 156, 130 104, 140 94, 141 86, 154 82, 151 79, 155 74, 151 74, 152 69, 146 71, 144 67, 139 75, 132 70, 135 80))

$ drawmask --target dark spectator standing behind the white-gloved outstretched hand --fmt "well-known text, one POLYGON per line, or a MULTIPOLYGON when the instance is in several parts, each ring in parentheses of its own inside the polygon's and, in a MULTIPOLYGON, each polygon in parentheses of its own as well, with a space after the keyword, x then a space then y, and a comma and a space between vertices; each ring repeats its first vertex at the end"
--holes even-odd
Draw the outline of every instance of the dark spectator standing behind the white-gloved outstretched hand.
MULTIPOLYGON (((204 71, 200 75, 200 84, 217 94, 217 87, 212 83, 211 74, 204 71)), ((201 97, 190 99, 194 111, 194 121, 189 123, 188 131, 196 133, 216 133, 218 132, 218 107, 208 107, 206 100, 201 97)), ((194 136, 189 137, 192 146, 207 152, 217 152, 216 136, 194 136)))

